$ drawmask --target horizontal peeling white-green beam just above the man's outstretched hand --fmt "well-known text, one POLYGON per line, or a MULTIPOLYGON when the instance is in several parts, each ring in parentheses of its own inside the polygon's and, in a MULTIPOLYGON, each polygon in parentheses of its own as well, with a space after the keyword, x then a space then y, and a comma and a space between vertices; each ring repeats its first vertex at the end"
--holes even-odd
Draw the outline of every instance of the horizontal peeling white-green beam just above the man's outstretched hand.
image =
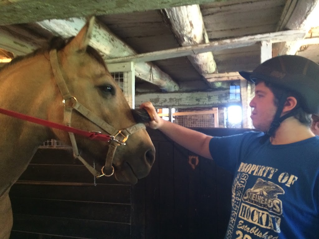
POLYGON ((191 108, 217 107, 220 105, 240 105, 239 99, 230 99, 229 89, 222 91, 146 93, 135 95, 135 107, 151 101, 155 107, 191 108))

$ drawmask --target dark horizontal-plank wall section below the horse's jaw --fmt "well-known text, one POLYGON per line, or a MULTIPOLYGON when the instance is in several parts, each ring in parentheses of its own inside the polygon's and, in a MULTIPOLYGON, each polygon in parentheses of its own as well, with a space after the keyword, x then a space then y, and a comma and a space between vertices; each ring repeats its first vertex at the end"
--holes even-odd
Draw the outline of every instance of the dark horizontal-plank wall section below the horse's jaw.
POLYGON ((131 185, 96 182, 68 150, 39 149, 10 191, 10 238, 131 238, 131 185))

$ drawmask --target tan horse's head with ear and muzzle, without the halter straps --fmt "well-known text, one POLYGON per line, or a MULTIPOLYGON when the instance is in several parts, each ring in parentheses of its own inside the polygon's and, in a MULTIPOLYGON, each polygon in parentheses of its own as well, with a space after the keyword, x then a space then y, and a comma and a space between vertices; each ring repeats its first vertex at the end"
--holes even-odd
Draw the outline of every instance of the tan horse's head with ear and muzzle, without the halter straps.
MULTIPOLYGON (((71 110, 72 117, 68 123, 74 128, 101 132, 115 137, 122 134, 122 137, 125 138, 125 145, 121 142, 115 143, 117 145, 115 153, 113 152, 114 158, 107 159, 111 160, 107 163, 103 161, 106 160, 110 150, 109 142, 91 141, 80 136, 75 136, 75 140, 85 155, 89 154, 99 159, 99 164, 105 163, 105 165, 113 166, 112 169, 117 180, 136 183, 137 179, 145 177, 149 173, 154 162, 155 149, 145 128, 141 128, 129 136, 123 135, 122 130, 136 125, 136 122, 121 88, 109 73, 102 57, 88 45, 93 25, 94 18, 91 18, 78 35, 65 46, 63 44, 57 46, 58 43, 52 44, 52 47, 56 47, 57 65, 65 82, 65 85, 62 83, 62 88, 68 89, 70 100, 77 101, 88 110, 82 114, 71 110), (87 117, 88 114, 90 114, 89 117, 87 117), (92 115, 106 122, 111 129, 103 127, 105 123, 102 123, 101 126, 94 122, 92 115)), ((52 57, 50 61, 52 64, 52 57)), ((57 78, 56 74, 53 74, 52 77, 57 78)), ((63 94, 66 93, 61 90, 61 87, 59 89, 56 86, 54 91, 56 103, 51 105, 49 120, 61 122, 61 119, 65 120, 66 118, 65 115, 63 116, 66 106, 62 102, 64 100, 64 104, 69 103, 65 102, 63 94)), ((53 133, 55 138, 71 143, 65 132, 53 129, 53 133)))

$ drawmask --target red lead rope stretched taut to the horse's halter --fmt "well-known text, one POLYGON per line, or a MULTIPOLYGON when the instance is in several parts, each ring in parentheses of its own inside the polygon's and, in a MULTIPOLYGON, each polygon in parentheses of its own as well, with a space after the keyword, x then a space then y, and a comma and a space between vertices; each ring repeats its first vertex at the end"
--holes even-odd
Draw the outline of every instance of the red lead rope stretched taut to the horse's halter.
POLYGON ((73 127, 69 127, 69 126, 65 126, 65 125, 60 125, 54 122, 50 122, 48 120, 41 120, 39 118, 35 118, 35 117, 31 117, 25 114, 21 114, 21 113, 17 113, 14 111, 10 111, 10 110, 5 110, 0 108, 0 113, 1 114, 5 114, 8 116, 12 116, 14 118, 18 118, 21 120, 26 120, 32 123, 36 123, 39 125, 43 125, 43 126, 47 126, 47 127, 51 127, 51 128, 56 128, 56 129, 60 129, 63 131, 67 131, 70 133, 74 133, 74 134, 79 134, 79 135, 83 135, 85 137, 90 138, 91 140, 99 140, 99 141, 109 141, 111 139, 111 137, 107 134, 100 134, 97 132, 87 132, 84 130, 80 130, 80 129, 76 129, 73 127))

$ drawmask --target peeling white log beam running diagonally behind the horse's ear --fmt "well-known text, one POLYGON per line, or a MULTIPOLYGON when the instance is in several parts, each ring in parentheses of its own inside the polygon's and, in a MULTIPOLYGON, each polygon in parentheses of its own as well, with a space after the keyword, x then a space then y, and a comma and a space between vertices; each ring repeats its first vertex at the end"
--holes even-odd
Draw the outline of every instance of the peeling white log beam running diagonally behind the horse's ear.
MULTIPOLYGON (((52 32, 54 35, 66 38, 76 35, 78 30, 81 29, 85 23, 85 18, 68 18, 66 20, 44 20, 37 24, 52 32)), ((111 33, 106 26, 98 21, 96 21, 93 28, 90 45, 102 54, 107 63, 109 63, 109 58, 137 54, 130 46, 126 45, 122 40, 111 33)), ((170 76, 151 63, 136 63, 135 75, 147 82, 159 86, 164 91, 177 91, 179 89, 178 84, 170 76)))

